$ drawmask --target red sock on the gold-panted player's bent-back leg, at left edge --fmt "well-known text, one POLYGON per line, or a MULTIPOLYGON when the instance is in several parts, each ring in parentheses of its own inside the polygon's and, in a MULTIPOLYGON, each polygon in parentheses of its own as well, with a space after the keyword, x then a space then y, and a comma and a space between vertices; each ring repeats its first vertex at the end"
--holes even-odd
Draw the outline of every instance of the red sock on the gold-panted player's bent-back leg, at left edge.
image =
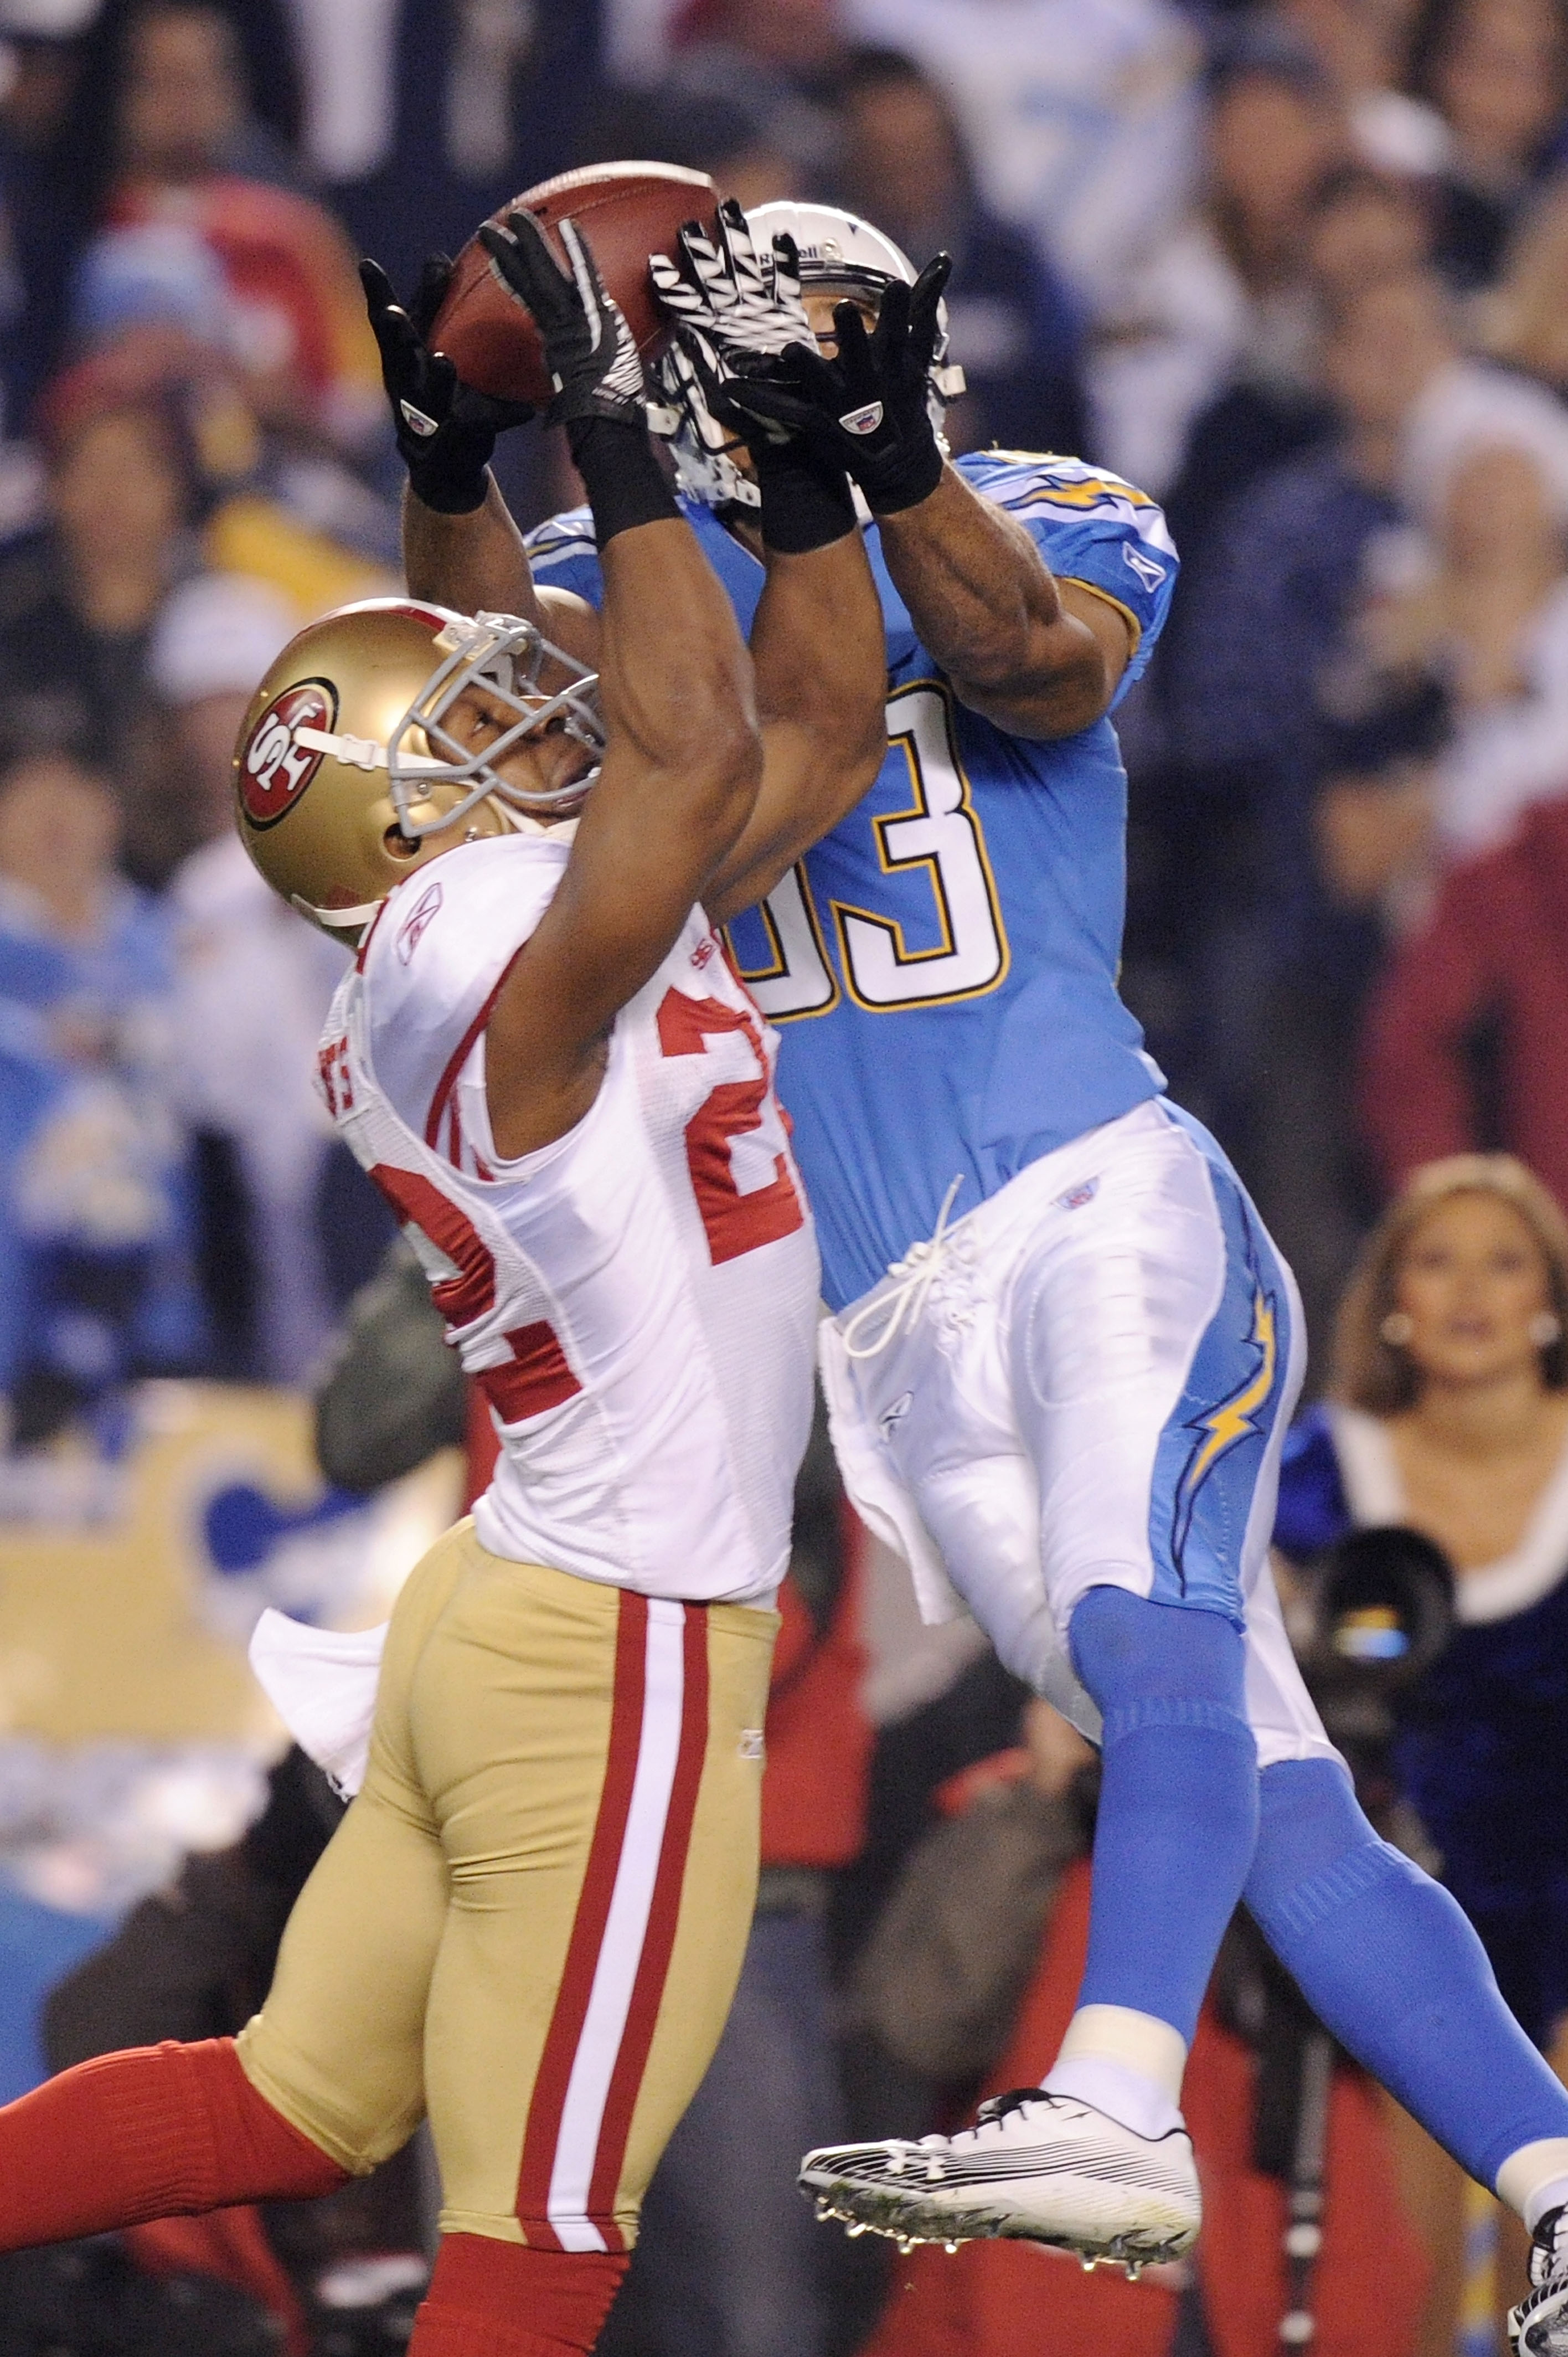
POLYGON ((0 2110, 0 2251, 344 2183, 257 2095, 233 2039, 97 2055, 0 2110))

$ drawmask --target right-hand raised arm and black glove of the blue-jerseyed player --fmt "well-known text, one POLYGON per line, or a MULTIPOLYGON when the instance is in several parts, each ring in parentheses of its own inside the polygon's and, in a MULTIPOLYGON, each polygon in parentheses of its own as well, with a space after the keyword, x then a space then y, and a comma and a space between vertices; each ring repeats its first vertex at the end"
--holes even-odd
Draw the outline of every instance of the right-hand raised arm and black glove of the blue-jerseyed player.
POLYGON ((769 408, 865 493, 894 587, 960 700, 1012 735, 1075 735, 1111 709, 1132 634, 943 464, 927 387, 948 271, 938 255, 913 288, 889 285, 870 335, 837 304, 837 356, 790 351, 792 384, 769 408))

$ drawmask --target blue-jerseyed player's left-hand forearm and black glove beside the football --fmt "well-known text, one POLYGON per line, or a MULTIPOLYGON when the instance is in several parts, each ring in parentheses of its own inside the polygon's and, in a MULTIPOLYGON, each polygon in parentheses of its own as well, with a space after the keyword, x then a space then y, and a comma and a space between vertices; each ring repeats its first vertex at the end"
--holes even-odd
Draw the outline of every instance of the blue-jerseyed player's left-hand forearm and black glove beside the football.
POLYGON ((490 474, 498 434, 533 417, 526 401, 474 391, 427 335, 453 264, 429 255, 408 306, 380 262, 361 262, 370 332, 382 356, 403 493, 403 573, 413 596, 453 613, 516 613, 589 669, 599 662, 599 618, 566 592, 535 594, 523 535, 490 474))

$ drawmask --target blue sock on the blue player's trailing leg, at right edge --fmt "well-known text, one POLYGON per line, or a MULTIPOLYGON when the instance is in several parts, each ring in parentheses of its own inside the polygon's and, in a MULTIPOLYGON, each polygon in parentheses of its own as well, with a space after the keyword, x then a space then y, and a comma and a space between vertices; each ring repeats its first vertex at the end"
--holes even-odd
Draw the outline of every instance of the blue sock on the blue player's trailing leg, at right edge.
POLYGON ((1457 1900, 1377 1838, 1337 1761, 1264 1770, 1245 1897, 1318 2020, 1481 2185, 1568 2135, 1457 1900))

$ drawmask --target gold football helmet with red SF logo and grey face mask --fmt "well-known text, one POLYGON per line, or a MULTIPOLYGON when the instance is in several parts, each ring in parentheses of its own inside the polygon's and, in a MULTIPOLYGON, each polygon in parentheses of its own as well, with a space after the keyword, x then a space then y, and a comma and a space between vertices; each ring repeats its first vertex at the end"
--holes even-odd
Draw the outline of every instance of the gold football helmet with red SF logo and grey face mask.
POLYGON ((507 613, 460 615, 420 599, 365 599, 311 622, 250 698, 233 747, 241 841, 274 891, 340 940, 358 940, 387 893, 476 834, 566 816, 599 775, 597 674, 507 613), (552 681, 540 686, 549 667, 552 681), (516 712, 474 750, 446 726, 483 686, 516 712), (552 724, 592 750, 571 785, 538 790, 498 764, 552 724))

